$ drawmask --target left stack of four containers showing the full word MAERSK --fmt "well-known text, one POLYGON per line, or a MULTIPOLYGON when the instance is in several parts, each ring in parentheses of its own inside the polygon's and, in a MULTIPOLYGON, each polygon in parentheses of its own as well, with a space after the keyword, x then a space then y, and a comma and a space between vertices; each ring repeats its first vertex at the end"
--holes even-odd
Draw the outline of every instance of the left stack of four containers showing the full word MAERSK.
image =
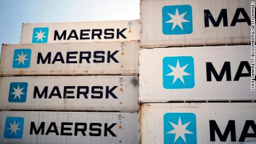
POLYGON ((1 142, 139 143, 139 21, 23 24, 21 35, 2 48, 1 142))

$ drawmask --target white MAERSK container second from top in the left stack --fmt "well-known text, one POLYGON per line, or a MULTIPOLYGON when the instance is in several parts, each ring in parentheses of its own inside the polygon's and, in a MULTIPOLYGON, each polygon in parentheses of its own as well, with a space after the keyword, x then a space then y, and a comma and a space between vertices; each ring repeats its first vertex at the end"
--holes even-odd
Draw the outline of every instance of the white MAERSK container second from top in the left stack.
POLYGON ((139 42, 4 44, 1 75, 133 75, 139 42))

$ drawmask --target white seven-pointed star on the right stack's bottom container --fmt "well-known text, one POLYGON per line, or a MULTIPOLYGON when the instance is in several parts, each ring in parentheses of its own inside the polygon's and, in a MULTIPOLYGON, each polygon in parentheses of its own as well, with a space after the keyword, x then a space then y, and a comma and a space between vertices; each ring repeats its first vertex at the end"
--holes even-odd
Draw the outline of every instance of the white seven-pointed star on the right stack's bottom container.
POLYGON ((181 119, 179 117, 179 121, 178 121, 178 125, 175 125, 173 122, 170 122, 171 126, 174 127, 174 130, 169 131, 168 133, 174 133, 175 134, 175 139, 174 142, 176 142, 178 140, 179 137, 181 137, 185 142, 186 142, 186 138, 185 138, 185 134, 191 134, 193 132, 186 130, 186 127, 188 127, 190 122, 185 123, 184 125, 182 125, 181 123, 181 119))

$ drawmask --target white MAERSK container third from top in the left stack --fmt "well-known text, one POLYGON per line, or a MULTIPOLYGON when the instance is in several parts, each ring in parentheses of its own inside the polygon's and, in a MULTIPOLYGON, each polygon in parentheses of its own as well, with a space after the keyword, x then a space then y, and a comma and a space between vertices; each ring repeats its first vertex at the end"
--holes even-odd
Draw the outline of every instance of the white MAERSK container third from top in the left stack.
POLYGON ((0 110, 137 111, 137 76, 0 77, 0 110))

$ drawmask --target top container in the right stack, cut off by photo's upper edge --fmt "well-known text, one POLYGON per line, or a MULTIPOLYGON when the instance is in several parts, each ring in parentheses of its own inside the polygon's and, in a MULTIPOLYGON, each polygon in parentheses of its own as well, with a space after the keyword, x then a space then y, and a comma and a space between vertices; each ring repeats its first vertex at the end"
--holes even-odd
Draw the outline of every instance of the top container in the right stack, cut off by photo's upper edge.
POLYGON ((141 0, 141 46, 250 43, 249 0, 141 0))

